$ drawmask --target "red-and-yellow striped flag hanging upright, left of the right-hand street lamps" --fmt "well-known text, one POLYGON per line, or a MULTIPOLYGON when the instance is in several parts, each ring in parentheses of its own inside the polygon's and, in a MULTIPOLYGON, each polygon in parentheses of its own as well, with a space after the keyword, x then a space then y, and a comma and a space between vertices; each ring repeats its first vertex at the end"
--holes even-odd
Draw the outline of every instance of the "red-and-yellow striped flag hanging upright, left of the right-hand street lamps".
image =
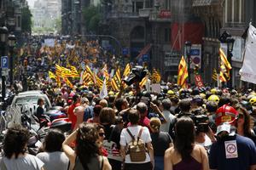
POLYGON ((177 70, 177 84, 180 85, 182 88, 186 88, 187 83, 186 79, 189 77, 187 63, 184 57, 180 59, 178 70, 177 70))

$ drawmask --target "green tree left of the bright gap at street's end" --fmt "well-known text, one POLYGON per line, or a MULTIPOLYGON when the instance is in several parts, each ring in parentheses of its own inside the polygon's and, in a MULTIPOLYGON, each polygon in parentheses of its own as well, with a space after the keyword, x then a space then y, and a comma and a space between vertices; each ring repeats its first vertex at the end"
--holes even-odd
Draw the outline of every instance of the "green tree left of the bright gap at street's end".
POLYGON ((28 7, 21 9, 21 31, 31 32, 32 14, 28 7))

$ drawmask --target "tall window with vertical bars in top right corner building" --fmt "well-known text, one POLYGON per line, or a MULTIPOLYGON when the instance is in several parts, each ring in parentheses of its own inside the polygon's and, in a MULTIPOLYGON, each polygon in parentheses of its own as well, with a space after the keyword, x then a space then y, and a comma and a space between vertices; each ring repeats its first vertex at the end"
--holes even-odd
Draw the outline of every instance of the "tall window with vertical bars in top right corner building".
POLYGON ((225 1, 226 23, 242 23, 245 21, 245 0, 225 1))

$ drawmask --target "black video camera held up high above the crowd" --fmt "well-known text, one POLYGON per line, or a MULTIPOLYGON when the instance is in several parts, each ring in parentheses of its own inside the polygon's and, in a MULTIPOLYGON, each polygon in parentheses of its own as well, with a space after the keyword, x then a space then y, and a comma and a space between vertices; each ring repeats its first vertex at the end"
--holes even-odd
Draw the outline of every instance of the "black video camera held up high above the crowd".
POLYGON ((141 82, 143 78, 147 75, 148 70, 143 68, 143 66, 136 65, 134 68, 131 69, 131 73, 128 77, 125 77, 124 82, 131 86, 134 82, 141 82))

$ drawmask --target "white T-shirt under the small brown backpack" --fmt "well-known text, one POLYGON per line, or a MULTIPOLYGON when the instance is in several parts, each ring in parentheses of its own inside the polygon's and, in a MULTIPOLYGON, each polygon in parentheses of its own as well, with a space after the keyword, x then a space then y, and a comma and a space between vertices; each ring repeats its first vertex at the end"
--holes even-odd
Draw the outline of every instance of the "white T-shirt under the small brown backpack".
MULTIPOLYGON (((129 130, 131 131, 131 134, 135 135, 135 139, 137 139, 137 135, 138 135, 141 127, 142 126, 128 127, 129 130)), ((148 127, 143 127, 143 133, 141 135, 141 139, 143 140, 144 144, 147 144, 148 142, 152 141, 151 137, 150 137, 150 133, 148 131, 148 127)), ((131 136, 127 132, 127 129, 124 128, 122 130, 121 136, 120 136, 120 145, 127 146, 131 142, 131 140, 132 140, 131 136)), ((149 157, 148 153, 146 153, 145 161, 137 161, 137 162, 133 161, 132 162, 129 154, 125 156, 125 163, 147 163, 148 161, 150 161, 150 157, 149 157)))

